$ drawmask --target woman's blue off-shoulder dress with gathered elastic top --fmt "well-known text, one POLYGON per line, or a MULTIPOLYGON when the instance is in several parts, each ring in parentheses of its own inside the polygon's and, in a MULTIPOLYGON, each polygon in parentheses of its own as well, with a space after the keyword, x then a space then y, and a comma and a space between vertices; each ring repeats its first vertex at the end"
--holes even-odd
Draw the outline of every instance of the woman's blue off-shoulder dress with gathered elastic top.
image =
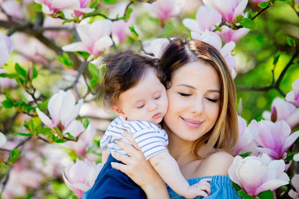
MULTIPOLYGON (((237 191, 233 188, 232 181, 228 176, 205 176, 201 178, 188 179, 187 182, 189 183, 189 185, 194 185, 203 178, 212 179, 209 182, 211 185, 211 195, 206 198, 196 197, 196 199, 242 199, 238 195, 237 191)), ((176 194, 168 185, 167 190, 170 199, 184 199, 184 197, 176 194)))

